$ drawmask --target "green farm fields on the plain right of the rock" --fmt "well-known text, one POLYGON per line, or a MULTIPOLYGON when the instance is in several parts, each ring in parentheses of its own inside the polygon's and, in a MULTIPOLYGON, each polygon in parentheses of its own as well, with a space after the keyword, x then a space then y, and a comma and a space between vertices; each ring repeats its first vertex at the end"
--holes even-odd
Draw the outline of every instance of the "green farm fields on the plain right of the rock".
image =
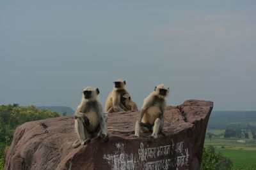
MULTIPOLYGON (((224 130, 216 129, 210 131, 214 134, 223 133, 224 130)), ((256 164, 256 140, 243 139, 246 143, 238 143, 241 139, 213 138, 205 139, 205 146, 214 146, 216 152, 232 160, 234 166, 256 164)))

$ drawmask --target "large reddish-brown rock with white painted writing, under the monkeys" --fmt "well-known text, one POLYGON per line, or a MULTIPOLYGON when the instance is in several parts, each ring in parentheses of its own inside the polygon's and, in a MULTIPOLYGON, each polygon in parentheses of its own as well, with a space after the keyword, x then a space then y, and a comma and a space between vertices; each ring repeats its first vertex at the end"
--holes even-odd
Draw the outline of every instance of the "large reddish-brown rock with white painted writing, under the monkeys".
MULTIPOLYGON (((167 106, 164 132, 153 143, 149 133, 109 132, 109 142, 94 138, 71 148, 77 139, 72 116, 27 122, 17 127, 4 169, 199 169, 211 101, 188 100, 167 106)), ((108 126, 133 130, 139 112, 109 113, 108 126)))

